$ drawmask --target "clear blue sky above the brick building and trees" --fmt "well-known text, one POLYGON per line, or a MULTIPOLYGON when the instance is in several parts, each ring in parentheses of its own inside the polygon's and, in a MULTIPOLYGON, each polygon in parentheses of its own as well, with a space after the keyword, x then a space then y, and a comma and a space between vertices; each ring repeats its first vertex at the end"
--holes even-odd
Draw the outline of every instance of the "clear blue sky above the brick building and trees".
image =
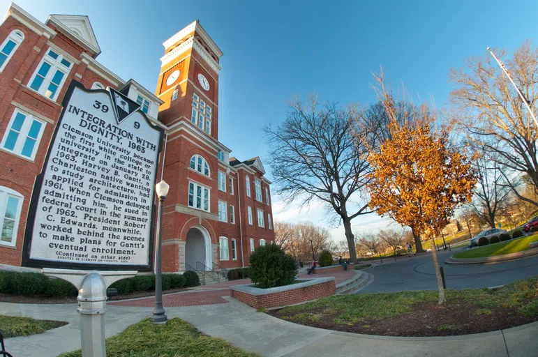
MULTIPOLYGON (((0 0, 5 13, 9 1, 0 0)), ((448 105, 448 73, 486 47, 511 53, 537 33, 538 1, 58 1, 20 0, 45 22, 50 14, 89 15, 98 61, 154 91, 162 43, 199 19, 221 47, 219 139, 244 160, 264 159, 262 128, 285 119, 292 96, 368 105, 371 73, 383 66, 394 86, 437 107, 448 105)), ((270 167, 267 167, 270 172, 270 167)), ((269 174, 269 178, 270 178, 269 174)), ((319 204, 275 217, 322 221, 319 204)), ((387 225, 377 215, 354 220, 354 233, 387 225)), ((396 227, 393 225, 392 227, 396 227)), ((332 229, 335 239, 343 229, 332 229)))

